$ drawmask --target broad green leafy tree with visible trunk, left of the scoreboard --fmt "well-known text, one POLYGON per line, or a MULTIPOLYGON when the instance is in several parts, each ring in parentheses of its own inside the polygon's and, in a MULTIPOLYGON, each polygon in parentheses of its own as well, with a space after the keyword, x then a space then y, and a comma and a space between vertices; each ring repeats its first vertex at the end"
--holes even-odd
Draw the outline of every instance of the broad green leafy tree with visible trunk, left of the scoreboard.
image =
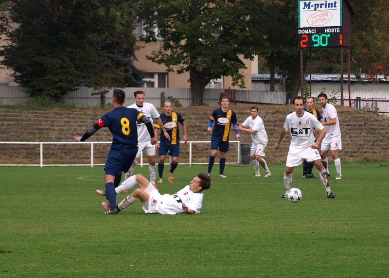
POLYGON ((252 59, 263 36, 256 16, 260 0, 142 0, 138 17, 146 42, 163 39, 148 58, 177 73, 189 72, 192 102, 203 104, 205 86, 231 76, 244 86, 241 57, 252 59), (158 34, 155 34, 158 27, 158 34))

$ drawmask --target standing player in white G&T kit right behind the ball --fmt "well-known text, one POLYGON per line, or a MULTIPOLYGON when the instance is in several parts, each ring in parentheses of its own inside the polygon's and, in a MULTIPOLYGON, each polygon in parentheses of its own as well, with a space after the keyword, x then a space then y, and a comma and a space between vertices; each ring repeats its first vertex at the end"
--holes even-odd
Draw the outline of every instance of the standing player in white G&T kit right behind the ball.
POLYGON ((283 184, 285 193, 280 198, 287 198, 287 192, 292 188, 292 173, 296 166, 301 165, 304 159, 307 162, 313 162, 320 173, 320 180, 323 183, 327 197, 335 198, 335 194, 330 188, 330 179, 328 173, 321 162, 321 157, 318 152, 318 146, 326 135, 327 131, 324 126, 316 119, 314 115, 304 111, 305 100, 302 97, 295 97, 293 106, 295 112, 286 116, 283 128, 280 133, 280 138, 274 146, 276 150, 280 148, 280 143, 289 131, 291 135, 288 156, 286 158, 285 174, 283 176, 283 184), (313 142, 313 129, 320 131, 316 142, 313 142))

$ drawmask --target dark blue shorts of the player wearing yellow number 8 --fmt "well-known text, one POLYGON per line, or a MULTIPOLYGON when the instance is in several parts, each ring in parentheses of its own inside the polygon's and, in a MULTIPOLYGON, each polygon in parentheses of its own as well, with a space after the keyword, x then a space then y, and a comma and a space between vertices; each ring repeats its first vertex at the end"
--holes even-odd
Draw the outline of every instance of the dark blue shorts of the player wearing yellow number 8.
POLYGON ((121 150, 110 149, 106 157, 106 166, 104 171, 106 174, 116 176, 117 174, 126 173, 130 169, 135 156, 138 153, 138 147, 124 148, 121 150))

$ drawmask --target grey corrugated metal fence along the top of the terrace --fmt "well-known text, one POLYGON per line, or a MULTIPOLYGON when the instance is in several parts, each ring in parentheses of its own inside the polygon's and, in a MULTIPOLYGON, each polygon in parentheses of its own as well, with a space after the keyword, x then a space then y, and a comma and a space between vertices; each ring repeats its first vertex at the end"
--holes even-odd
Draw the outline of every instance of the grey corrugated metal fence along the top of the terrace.
MULTIPOLYGON (((146 101, 160 106, 161 93, 164 92, 165 98, 172 97, 177 99, 182 106, 190 106, 192 103, 191 90, 189 88, 123 88, 126 93, 125 105, 133 103, 133 92, 142 90, 145 92, 146 101)), ((110 103, 113 89, 105 95, 106 103, 110 103)), ((78 90, 68 93, 62 98, 65 103, 73 104, 76 107, 96 107, 101 103, 100 95, 92 95, 97 90, 88 87, 79 87, 78 90)), ((262 104, 285 104, 285 92, 255 91, 255 90, 224 90, 224 89, 205 89, 204 104, 217 105, 222 93, 233 96, 232 101, 238 103, 262 103, 262 104), (232 92, 232 93, 231 93, 232 92)), ((29 90, 22 87, 0 86, 0 104, 18 105, 25 104, 29 99, 29 90)))

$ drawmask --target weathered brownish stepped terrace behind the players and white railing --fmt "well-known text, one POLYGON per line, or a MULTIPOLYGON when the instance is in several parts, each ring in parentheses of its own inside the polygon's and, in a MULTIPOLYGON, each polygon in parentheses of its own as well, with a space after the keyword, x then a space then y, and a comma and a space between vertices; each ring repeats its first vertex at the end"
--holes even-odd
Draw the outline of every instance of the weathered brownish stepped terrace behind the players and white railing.
MULTIPOLYGON (((243 122, 249 116, 249 108, 252 105, 231 105, 237 113, 238 121, 243 122)), ((264 119, 269 143, 266 149, 266 158, 269 161, 285 161, 290 136, 287 135, 281 150, 275 151, 273 146, 278 140, 279 132, 283 126, 285 116, 293 107, 289 105, 257 105, 260 116, 264 119)), ((201 106, 176 108, 188 123, 189 140, 210 140, 211 134, 206 131, 206 124, 212 110, 219 106, 201 106)), ((371 113, 351 108, 337 107, 341 129, 343 151, 341 157, 347 160, 358 160, 363 157, 371 159, 389 160, 389 120, 385 117, 373 116, 371 113)), ((162 109, 158 109, 162 113, 162 109)), ((0 140, 1 141, 73 141, 74 136, 82 136, 87 128, 96 122, 108 110, 16 110, 0 108, 0 140)), ((182 136, 182 128, 180 128, 182 136)), ((95 141, 110 141, 109 130, 104 128, 96 133, 95 141)), ((234 132, 230 131, 230 140, 235 140, 234 132)), ((241 143, 251 143, 249 134, 243 133, 241 143)), ((0 159, 4 160, 28 160, 37 159, 37 145, 24 146, 7 145, 2 148, 0 159)), ((95 160, 104 163, 108 145, 96 147, 95 160)), ((236 145, 231 144, 231 152, 235 152, 236 145)), ((89 162, 88 145, 56 145, 45 147, 45 161, 71 159, 85 160, 89 162), (47 156, 47 157, 46 157, 47 156), (53 156, 53 157, 52 157, 53 156)), ((182 158, 188 156, 187 148, 181 147, 182 158)), ((197 161, 206 161, 209 157, 209 144, 196 145, 193 149, 193 157, 197 161)), ((5 163, 5 162, 3 162, 5 163)), ((61 163, 61 162, 60 162, 61 163)), ((100 162, 98 162, 100 163, 100 162)))

